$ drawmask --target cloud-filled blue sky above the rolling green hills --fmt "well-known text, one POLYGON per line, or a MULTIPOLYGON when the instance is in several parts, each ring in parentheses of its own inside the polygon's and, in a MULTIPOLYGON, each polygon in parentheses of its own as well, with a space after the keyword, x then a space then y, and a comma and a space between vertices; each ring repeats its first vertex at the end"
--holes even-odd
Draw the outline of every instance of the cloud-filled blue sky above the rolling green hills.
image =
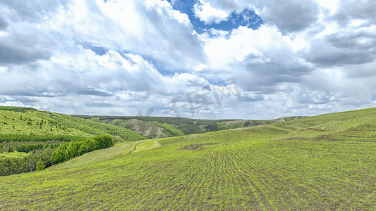
POLYGON ((0 0, 0 106, 273 119, 376 107, 376 1, 0 0))

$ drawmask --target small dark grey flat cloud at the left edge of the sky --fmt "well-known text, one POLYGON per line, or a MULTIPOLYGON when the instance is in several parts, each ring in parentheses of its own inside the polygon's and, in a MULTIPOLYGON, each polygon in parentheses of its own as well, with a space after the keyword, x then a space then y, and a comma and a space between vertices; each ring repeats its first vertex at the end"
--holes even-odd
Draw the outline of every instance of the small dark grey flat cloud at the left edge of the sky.
MULTIPOLYGON (((35 46, 34 46, 35 47, 35 46)), ((49 59, 51 53, 42 49, 0 43, 0 65, 18 65, 49 59)))

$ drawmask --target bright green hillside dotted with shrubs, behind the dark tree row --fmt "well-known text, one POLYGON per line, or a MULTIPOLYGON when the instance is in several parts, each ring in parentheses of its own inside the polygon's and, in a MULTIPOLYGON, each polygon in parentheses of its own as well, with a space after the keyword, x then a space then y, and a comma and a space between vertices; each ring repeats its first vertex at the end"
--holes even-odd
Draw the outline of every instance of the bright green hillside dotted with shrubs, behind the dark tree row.
POLYGON ((89 137, 111 134, 115 141, 138 141, 145 139, 138 133, 123 127, 83 120, 70 115, 40 111, 34 108, 1 107, 1 134, 69 135, 89 137))

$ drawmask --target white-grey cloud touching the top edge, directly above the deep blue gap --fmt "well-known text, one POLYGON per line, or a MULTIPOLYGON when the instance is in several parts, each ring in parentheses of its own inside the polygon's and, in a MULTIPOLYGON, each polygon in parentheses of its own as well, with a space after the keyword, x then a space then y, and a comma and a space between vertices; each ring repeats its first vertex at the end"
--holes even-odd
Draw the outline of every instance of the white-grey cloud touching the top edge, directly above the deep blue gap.
POLYGON ((281 32, 298 32, 314 24, 319 15, 315 1, 214 1, 200 0, 194 7, 195 15, 205 23, 218 23, 226 20, 233 12, 252 8, 265 23, 275 25, 281 32))

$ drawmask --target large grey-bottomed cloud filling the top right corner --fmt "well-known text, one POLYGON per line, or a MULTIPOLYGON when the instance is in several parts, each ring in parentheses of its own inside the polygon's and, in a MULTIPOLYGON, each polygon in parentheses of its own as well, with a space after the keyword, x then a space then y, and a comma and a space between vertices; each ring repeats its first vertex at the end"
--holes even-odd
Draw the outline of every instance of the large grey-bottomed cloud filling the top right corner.
POLYGON ((339 1, 334 15, 327 14, 322 20, 335 22, 338 29, 313 39, 303 56, 305 60, 317 68, 361 65, 375 60, 376 33, 372 24, 376 22, 376 1, 339 1))

